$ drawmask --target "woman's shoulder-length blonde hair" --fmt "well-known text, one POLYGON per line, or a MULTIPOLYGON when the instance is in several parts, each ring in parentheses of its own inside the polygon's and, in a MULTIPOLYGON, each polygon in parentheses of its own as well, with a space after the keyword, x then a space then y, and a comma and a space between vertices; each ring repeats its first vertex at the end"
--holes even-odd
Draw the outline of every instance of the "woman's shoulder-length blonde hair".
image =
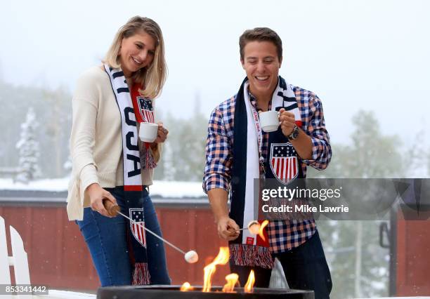
POLYGON ((138 15, 131 18, 124 26, 119 28, 115 38, 107 51, 103 62, 115 69, 121 67, 119 62, 119 50, 122 39, 133 36, 143 30, 155 40, 155 55, 151 64, 135 72, 133 82, 137 82, 145 89, 139 90, 145 98, 157 98, 161 93, 167 77, 167 65, 164 60, 163 34, 158 24, 150 18, 142 18, 138 15))

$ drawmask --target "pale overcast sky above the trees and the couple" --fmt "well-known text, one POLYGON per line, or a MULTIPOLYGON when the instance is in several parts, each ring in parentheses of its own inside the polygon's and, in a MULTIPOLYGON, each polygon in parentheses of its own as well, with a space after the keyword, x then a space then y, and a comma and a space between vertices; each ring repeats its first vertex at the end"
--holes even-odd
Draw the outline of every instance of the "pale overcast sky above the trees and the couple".
POLYGON ((409 142, 430 125, 429 8, 426 0, 3 1, 1 77, 72 91, 126 20, 148 16, 162 27, 169 67, 157 109, 191 117, 198 96, 209 117, 245 77, 240 34, 271 27, 283 41, 280 74, 323 100, 332 142, 347 142, 360 109, 409 142))

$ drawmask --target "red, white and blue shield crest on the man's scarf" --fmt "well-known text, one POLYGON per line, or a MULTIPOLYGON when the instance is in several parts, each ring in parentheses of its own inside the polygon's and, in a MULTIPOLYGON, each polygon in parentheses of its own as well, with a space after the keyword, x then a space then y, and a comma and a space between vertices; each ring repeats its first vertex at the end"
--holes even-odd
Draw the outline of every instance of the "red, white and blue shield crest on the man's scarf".
POLYGON ((273 175, 282 184, 287 185, 288 182, 297 178, 299 160, 291 143, 272 143, 270 157, 273 175))

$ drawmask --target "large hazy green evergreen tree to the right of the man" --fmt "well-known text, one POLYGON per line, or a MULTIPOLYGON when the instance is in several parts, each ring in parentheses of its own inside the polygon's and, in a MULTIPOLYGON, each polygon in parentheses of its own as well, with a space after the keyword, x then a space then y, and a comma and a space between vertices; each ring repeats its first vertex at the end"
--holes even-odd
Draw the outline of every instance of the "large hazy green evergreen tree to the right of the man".
MULTIPOLYGON (((353 124, 352 145, 332 145, 330 166, 322 172, 308 168, 308 177, 396 178, 405 175, 408 164, 403 163, 400 155, 399 139, 382 135, 372 112, 358 112, 353 124)), ((388 295, 389 251, 379 246, 380 223, 381 220, 318 221, 318 232, 332 272, 331 298, 388 295)))

